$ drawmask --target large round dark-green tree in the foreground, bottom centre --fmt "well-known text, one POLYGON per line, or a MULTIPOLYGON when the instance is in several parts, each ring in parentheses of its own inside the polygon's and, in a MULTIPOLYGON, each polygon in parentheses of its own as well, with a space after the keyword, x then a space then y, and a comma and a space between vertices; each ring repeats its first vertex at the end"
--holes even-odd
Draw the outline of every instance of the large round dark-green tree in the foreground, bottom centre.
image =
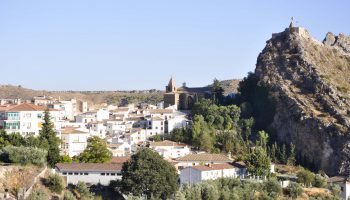
POLYGON ((178 175, 174 166, 158 153, 141 148, 124 163, 121 191, 135 196, 166 199, 178 189, 178 175))

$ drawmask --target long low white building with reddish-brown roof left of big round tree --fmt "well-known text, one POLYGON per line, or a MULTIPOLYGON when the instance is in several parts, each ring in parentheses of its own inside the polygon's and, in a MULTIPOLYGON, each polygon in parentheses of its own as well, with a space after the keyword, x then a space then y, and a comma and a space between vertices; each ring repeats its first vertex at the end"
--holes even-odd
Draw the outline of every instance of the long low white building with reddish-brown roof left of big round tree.
POLYGON ((76 185, 79 181, 87 185, 109 185, 120 180, 122 165, 111 163, 58 163, 56 173, 62 176, 67 185, 76 185))

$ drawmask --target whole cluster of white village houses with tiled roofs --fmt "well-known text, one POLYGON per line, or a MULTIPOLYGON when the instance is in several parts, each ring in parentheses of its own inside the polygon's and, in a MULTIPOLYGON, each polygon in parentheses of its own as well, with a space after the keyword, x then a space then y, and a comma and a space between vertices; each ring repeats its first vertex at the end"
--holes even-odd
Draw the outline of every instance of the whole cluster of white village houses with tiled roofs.
MULTIPOLYGON (((195 152, 187 144, 164 140, 175 128, 185 128, 190 123, 187 113, 178 110, 178 105, 167 108, 163 108, 162 104, 106 105, 90 109, 87 102, 76 99, 62 101, 38 96, 25 103, 20 99, 0 99, 0 129, 9 134, 38 136, 45 111, 50 112, 57 137, 61 139, 62 155, 79 155, 92 136, 104 139, 113 154, 110 163, 57 164, 55 170, 67 184, 83 181, 90 185, 108 185, 111 181, 120 180, 123 163, 139 147, 149 147, 171 163, 177 169, 181 184, 191 185, 222 177, 244 180, 249 175, 245 164, 235 162, 230 156, 195 152), (163 140, 150 141, 156 135, 163 140)), ((271 172, 274 172, 273 167, 271 172)), ((329 182, 340 185, 342 197, 346 199, 350 196, 349 179, 332 177, 329 182)), ((289 181, 281 184, 286 187, 289 181)))

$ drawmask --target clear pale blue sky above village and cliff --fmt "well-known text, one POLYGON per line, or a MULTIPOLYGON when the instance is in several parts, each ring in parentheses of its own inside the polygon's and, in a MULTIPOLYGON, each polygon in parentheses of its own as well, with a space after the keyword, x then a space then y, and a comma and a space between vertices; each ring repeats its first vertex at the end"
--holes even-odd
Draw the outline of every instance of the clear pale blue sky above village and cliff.
POLYGON ((291 16, 322 40, 350 34, 349 1, 1 1, 0 84, 163 89, 243 78, 291 16))

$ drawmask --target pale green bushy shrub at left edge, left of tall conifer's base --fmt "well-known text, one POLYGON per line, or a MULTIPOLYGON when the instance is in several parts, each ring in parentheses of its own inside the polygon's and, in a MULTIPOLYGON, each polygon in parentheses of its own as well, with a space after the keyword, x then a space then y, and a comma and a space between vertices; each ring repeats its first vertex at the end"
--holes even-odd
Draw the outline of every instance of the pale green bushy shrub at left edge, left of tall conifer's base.
POLYGON ((4 162, 43 166, 46 163, 47 151, 35 147, 6 146, 0 151, 0 154, 4 162))

